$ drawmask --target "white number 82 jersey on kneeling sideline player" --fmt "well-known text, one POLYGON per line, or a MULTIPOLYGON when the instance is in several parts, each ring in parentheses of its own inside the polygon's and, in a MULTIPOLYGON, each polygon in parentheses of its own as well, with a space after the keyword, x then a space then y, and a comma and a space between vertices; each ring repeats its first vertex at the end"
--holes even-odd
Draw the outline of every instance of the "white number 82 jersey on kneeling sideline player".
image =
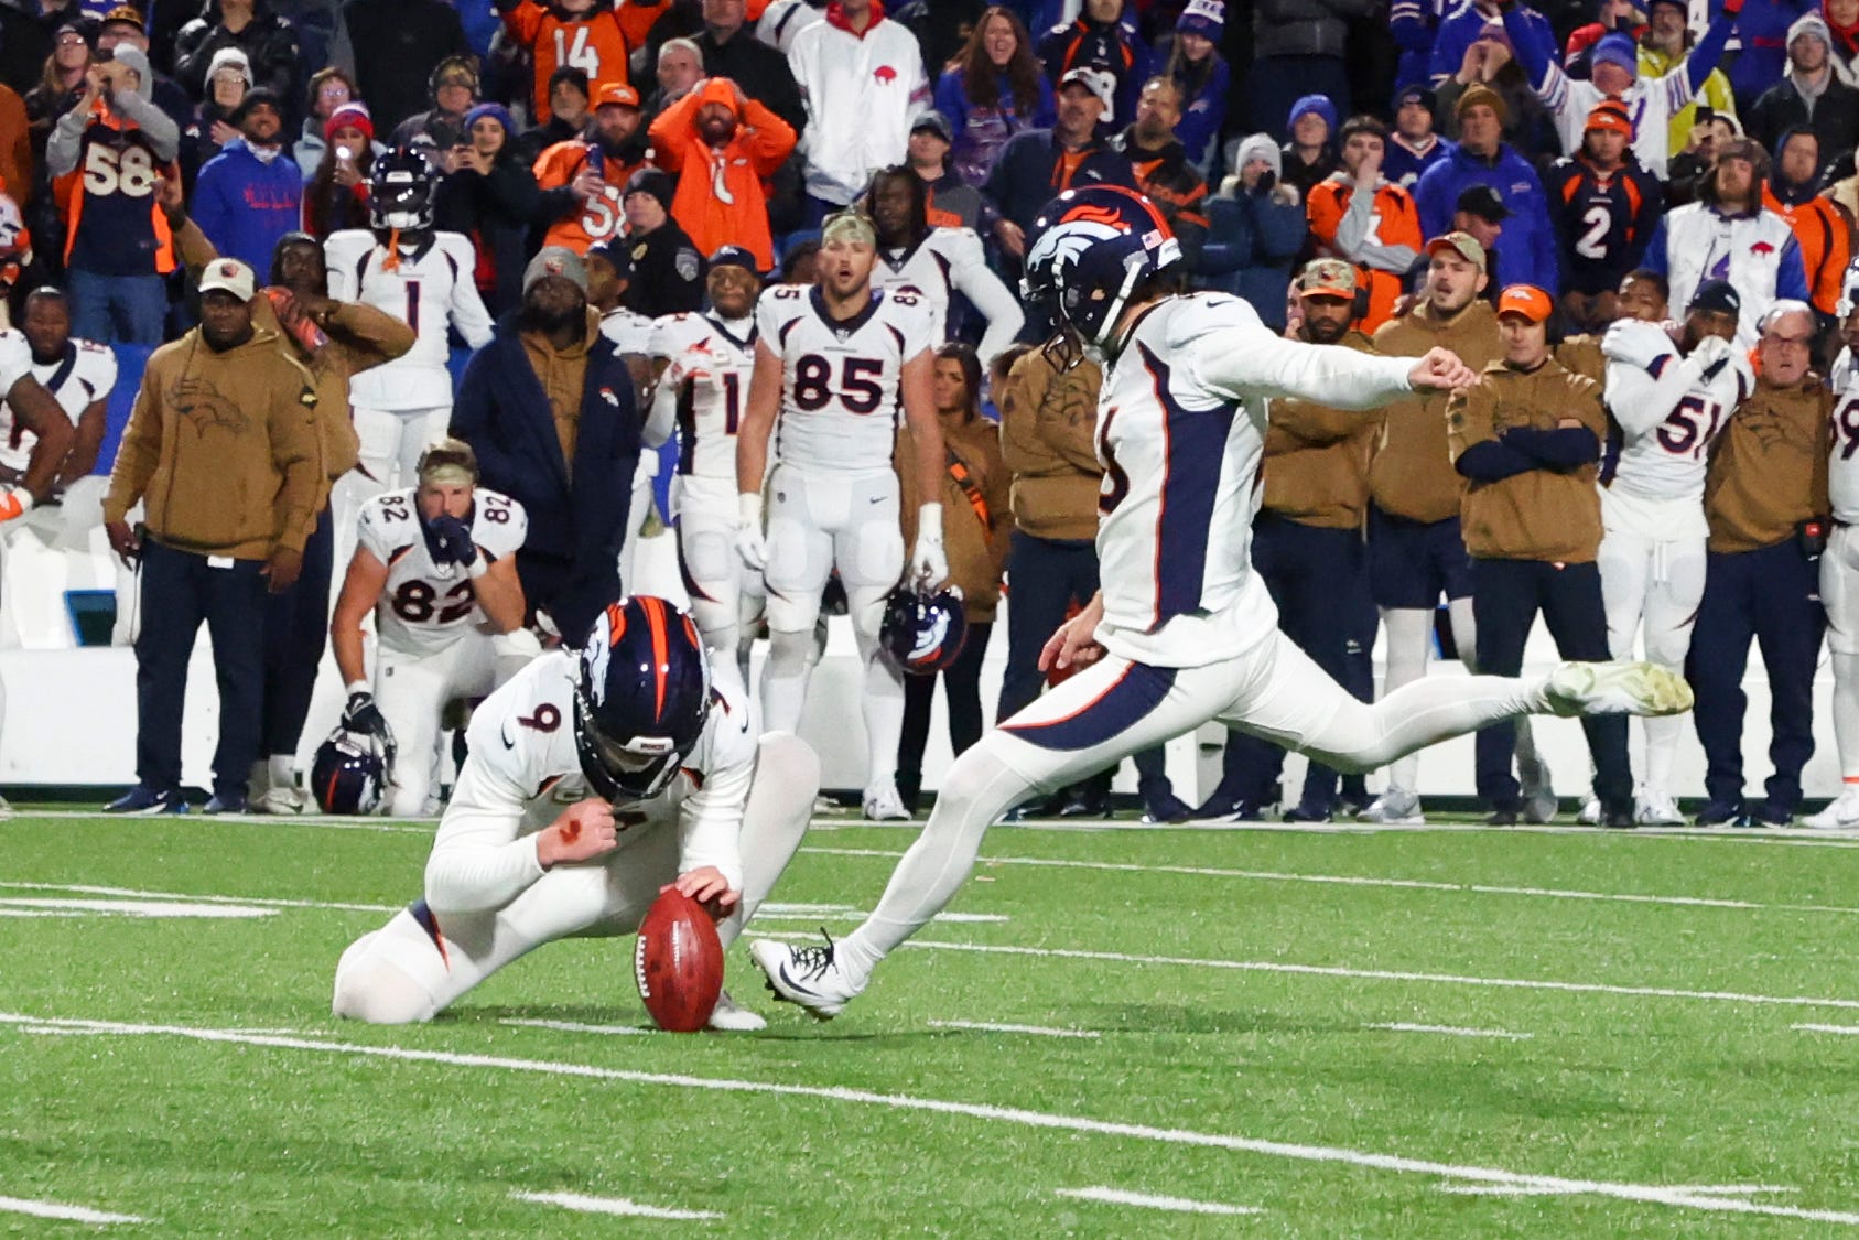
MULTIPOLYGON (((502 560, 517 554, 530 532, 522 504, 478 487, 472 496, 470 537, 480 554, 502 560)), ((387 491, 361 508, 361 545, 387 565, 387 586, 374 608, 374 630, 383 647, 431 654, 483 623, 470 576, 455 563, 433 563, 420 526, 413 487, 387 491)))

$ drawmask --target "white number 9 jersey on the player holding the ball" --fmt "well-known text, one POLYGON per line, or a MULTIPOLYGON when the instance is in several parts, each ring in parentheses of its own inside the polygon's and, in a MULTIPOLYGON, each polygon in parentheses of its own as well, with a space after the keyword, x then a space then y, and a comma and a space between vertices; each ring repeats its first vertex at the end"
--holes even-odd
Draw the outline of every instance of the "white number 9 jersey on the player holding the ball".
MULTIPOLYGON (((470 757, 439 824, 433 857, 448 850, 478 853, 474 877, 502 889, 502 904, 543 874, 530 837, 589 796, 574 751, 574 654, 550 651, 472 712, 470 757)), ((680 874, 716 866, 740 890, 738 837, 755 751, 747 705, 736 690, 716 688, 703 736, 671 785, 649 801, 613 807, 621 846, 606 864, 625 864, 628 835, 645 835, 630 827, 673 825, 680 874)))

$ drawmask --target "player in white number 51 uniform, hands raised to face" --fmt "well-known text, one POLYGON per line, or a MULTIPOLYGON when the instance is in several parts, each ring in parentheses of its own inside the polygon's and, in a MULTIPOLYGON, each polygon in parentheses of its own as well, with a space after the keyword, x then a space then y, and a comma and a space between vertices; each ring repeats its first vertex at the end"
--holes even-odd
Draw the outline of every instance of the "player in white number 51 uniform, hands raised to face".
MULTIPOLYGON (((1705 468, 1731 411, 1755 390, 1734 348, 1740 299, 1725 281, 1697 290, 1684 316, 1684 353, 1658 323, 1623 318, 1608 327, 1606 403, 1614 431, 1601 459, 1601 600, 1608 649, 1632 658, 1645 625, 1645 656, 1684 667, 1705 597, 1705 468)), ((1679 719, 1645 719, 1645 781, 1634 818, 1684 822, 1671 798, 1679 719)))

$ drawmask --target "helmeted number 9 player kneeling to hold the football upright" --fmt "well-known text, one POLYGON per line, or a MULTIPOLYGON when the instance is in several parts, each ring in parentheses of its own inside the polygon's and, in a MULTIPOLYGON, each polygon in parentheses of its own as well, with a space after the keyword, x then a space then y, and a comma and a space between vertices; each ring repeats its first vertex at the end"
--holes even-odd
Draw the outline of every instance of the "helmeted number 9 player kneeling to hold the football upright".
MULTIPOLYGON (((342 954, 335 1013, 429 1021, 545 943, 634 933, 666 885, 721 915, 727 946, 786 868, 818 788, 805 744, 757 742, 742 695, 712 688, 688 615, 621 599, 584 647, 543 654, 478 708, 426 898, 342 954)), ((727 995, 710 1017, 762 1024, 727 995)))

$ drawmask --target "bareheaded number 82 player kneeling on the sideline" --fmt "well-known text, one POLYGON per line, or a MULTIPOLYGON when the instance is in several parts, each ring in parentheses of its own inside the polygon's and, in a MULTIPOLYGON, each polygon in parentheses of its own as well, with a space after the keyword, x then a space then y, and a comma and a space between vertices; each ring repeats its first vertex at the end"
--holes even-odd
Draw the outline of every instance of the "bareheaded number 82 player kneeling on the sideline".
POLYGON ((493 634, 522 625, 515 552, 530 528, 522 504, 476 485, 470 444, 433 444, 420 457, 418 478, 416 489, 389 491, 363 506, 361 543, 329 623, 349 695, 342 727, 392 736, 389 812, 400 816, 426 811, 446 703, 494 688, 493 634), (374 693, 361 634, 370 612, 374 693))

